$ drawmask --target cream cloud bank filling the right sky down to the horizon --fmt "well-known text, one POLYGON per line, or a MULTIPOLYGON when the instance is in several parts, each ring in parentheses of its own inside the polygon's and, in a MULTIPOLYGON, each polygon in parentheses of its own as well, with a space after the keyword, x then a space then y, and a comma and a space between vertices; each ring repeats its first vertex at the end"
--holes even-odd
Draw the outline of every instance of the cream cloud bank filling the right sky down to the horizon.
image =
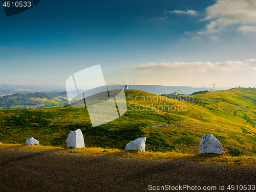
POLYGON ((254 87, 256 59, 225 62, 147 63, 119 67, 122 78, 152 85, 254 87))

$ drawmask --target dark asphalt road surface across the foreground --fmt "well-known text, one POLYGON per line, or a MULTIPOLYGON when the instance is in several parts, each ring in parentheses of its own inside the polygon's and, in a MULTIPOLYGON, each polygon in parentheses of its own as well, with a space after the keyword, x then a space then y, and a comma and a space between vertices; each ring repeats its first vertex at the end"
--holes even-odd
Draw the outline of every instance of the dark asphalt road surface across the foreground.
POLYGON ((0 191, 256 191, 253 185, 256 167, 0 150, 0 191))

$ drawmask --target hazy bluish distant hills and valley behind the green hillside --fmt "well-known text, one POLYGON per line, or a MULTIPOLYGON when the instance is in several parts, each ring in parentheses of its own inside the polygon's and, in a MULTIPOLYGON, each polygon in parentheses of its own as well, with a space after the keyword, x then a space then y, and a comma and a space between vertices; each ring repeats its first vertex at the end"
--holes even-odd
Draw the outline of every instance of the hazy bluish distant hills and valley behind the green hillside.
MULTIPOLYGON (((124 85, 123 85, 124 86, 124 85)), ((196 91, 210 90, 206 87, 161 86, 161 85, 127 85, 129 89, 142 90, 154 94, 171 94, 174 92, 189 95, 196 91)), ((227 88, 219 88, 223 90, 227 88)), ((65 85, 31 84, 0 85, 0 108, 37 109, 60 107, 68 104, 65 85)))

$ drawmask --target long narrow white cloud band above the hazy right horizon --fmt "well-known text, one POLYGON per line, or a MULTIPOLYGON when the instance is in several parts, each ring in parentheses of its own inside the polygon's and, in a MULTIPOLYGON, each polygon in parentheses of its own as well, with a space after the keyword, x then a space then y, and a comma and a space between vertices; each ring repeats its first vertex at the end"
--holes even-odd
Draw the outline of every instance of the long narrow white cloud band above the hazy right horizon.
POLYGON ((165 71, 177 70, 188 71, 194 73, 218 72, 218 71, 255 71, 256 60, 247 59, 245 61, 225 61, 225 62, 174 62, 174 63, 148 63, 138 64, 130 67, 119 67, 120 69, 128 69, 134 71, 165 71))

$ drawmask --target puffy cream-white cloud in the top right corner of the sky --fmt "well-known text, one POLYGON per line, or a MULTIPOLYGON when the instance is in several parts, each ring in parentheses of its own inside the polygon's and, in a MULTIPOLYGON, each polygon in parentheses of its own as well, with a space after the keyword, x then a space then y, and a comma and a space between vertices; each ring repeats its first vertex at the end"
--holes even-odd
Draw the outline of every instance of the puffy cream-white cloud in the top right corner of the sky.
MULTIPOLYGON (((206 8, 205 20, 211 20, 206 30, 199 32, 215 33, 232 24, 256 25, 256 1, 255 0, 218 0, 216 4, 206 8)), ((240 26, 239 31, 248 32, 252 28, 240 26)))

